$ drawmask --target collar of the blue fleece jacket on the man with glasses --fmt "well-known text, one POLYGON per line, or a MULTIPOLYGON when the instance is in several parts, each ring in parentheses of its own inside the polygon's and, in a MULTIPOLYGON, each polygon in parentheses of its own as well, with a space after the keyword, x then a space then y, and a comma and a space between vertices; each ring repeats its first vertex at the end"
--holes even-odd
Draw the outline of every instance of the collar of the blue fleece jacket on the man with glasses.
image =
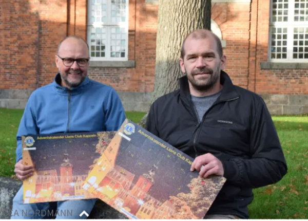
POLYGON ((89 77, 86 77, 85 80, 80 85, 68 89, 67 87, 61 86, 61 81, 62 81, 61 75, 60 73, 57 73, 56 76, 54 77, 53 88, 57 93, 62 95, 67 95, 68 91, 71 91, 72 95, 80 94, 87 86, 89 86, 89 83, 91 82, 89 77))

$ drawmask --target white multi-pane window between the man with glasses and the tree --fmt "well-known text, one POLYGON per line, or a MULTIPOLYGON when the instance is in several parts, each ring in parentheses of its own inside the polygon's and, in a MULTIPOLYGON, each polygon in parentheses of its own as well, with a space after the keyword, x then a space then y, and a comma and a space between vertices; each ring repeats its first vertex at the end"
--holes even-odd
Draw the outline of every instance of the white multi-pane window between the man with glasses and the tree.
POLYGON ((87 33, 92 61, 127 61, 128 0, 89 0, 87 33))

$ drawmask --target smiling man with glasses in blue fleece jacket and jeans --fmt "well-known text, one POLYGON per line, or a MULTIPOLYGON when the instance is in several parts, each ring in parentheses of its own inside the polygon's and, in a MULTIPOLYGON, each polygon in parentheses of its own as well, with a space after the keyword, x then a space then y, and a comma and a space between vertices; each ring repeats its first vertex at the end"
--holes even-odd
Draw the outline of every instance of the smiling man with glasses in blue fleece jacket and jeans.
MULTIPOLYGON (((23 135, 117 131, 125 120, 121 100, 115 90, 90 80, 89 47, 78 36, 68 36, 58 46, 55 63, 59 73, 53 83, 36 89, 30 96, 17 133, 15 173, 25 180, 33 175, 34 168, 23 165, 23 135)), ((13 199, 12 219, 44 218, 49 202, 23 204, 23 187, 13 199), (36 213, 36 211, 40 211, 36 213), (34 213, 30 212, 34 211, 34 213), (27 214, 27 215, 26 215, 27 214)), ((68 216, 61 212, 56 218, 80 217, 83 211, 90 214, 96 199, 56 202, 57 211, 71 211, 68 216)), ((46 218, 46 217, 45 217, 46 218)))

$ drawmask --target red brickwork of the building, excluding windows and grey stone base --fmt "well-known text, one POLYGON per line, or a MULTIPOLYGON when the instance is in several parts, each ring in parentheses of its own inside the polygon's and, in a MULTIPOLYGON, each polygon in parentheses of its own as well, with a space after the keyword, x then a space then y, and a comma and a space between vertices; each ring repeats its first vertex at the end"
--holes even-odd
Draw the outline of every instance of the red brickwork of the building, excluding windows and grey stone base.
MULTIPOLYGON (((57 44, 67 35, 86 38, 87 1, 0 0, 0 89, 35 89, 52 82, 57 44), (69 10, 68 10, 69 9, 69 10), (76 9, 76 10, 75 10, 76 9), (39 13, 38 13, 39 12, 39 13), (76 13, 75 13, 76 12, 76 13), (41 18, 40 51, 37 45, 41 18)), ((261 70, 267 61, 269 0, 213 3, 212 19, 227 41, 226 71, 233 82, 259 94, 308 94, 308 70, 261 70)), ((129 0, 128 60, 134 68, 94 68, 92 79, 119 91, 149 92, 155 78, 158 5, 129 0)))

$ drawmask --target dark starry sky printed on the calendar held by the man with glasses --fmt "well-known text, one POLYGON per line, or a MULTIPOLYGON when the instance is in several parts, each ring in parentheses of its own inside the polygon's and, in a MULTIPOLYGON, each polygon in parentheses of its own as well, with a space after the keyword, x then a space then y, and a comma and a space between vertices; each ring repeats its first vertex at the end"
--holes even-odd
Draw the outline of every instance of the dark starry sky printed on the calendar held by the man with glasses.
MULTIPOLYGON (((79 133, 81 134, 81 133, 79 133)), ((97 133, 82 133, 97 134, 97 133)), ((57 134, 52 136, 70 136, 75 134, 57 134)), ((44 137, 46 135, 40 135, 44 137)), ((38 171, 57 170, 60 176, 60 167, 64 162, 64 153, 68 153, 69 162, 73 165, 73 175, 87 175, 89 166, 93 164, 95 158, 100 154, 95 153, 98 137, 93 138, 70 138, 70 139, 48 139, 37 140, 37 136, 32 136, 35 140, 33 147, 35 151, 29 151, 35 168, 38 171), (65 141, 65 142, 63 142, 65 141)))

